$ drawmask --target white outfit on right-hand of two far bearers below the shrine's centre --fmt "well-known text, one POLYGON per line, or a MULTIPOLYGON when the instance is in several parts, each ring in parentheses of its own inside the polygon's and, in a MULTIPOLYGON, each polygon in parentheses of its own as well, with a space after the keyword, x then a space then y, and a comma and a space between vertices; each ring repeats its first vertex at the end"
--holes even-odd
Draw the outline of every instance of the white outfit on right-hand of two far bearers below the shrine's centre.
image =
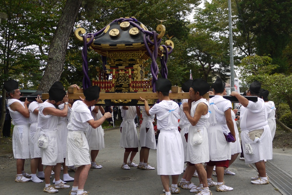
POLYGON ((154 115, 148 116, 145 111, 145 107, 141 106, 141 112, 143 121, 140 127, 140 146, 151 149, 156 149, 156 140, 154 135, 153 121, 154 115), (149 128, 146 133, 146 128, 149 128))

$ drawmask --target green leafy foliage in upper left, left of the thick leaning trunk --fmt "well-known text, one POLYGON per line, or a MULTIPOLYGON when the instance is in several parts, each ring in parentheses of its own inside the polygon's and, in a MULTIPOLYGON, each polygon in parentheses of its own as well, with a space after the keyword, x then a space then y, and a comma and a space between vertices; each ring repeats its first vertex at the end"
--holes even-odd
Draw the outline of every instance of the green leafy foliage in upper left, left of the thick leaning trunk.
POLYGON ((10 77, 36 89, 61 7, 60 1, 0 1, 0 11, 7 14, 0 28, 2 82, 10 77))

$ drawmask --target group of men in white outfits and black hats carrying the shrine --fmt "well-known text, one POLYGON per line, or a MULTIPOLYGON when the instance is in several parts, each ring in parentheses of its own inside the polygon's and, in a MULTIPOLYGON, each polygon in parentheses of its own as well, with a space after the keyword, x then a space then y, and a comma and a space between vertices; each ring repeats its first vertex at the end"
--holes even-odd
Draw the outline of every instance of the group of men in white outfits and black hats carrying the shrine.
MULTIPOLYGON (((251 183, 269 183, 265 161, 272 159, 272 139, 276 129, 275 106, 268 100, 269 92, 261 89, 258 81, 251 83, 246 92, 247 96, 258 96, 257 102, 249 101, 236 92, 230 94, 242 105, 240 116, 236 116, 237 109, 232 110, 232 103, 223 98, 226 89, 220 78, 216 79, 211 88, 203 79, 186 81, 182 89, 189 92, 190 99, 182 100, 180 106, 168 97, 171 89, 168 79, 159 78, 155 83, 159 103, 149 107, 147 100, 140 97, 145 106, 119 107, 123 119, 120 147, 125 148, 121 168, 154 170, 148 163, 148 157, 150 149, 157 149, 157 174, 161 177, 166 195, 179 193, 179 187, 208 195, 212 194, 209 189, 212 186, 216 186, 216 191, 233 190, 224 184, 223 178, 224 175, 235 175, 228 167, 243 152, 245 162, 255 163, 258 170, 258 176, 251 177, 251 183), (206 100, 203 95, 208 91, 215 96, 206 100), (143 121, 139 139, 135 118, 141 113, 143 121), (160 131, 158 142, 153 128, 155 116, 160 131), (241 121, 242 144, 239 142, 235 118, 241 121), (139 147, 140 161, 135 164, 133 161, 139 147), (184 163, 187 163, 185 168, 184 163), (212 174, 217 176, 217 182, 213 181, 212 174), (172 178, 171 185, 169 175, 172 178), (192 177, 199 177, 200 183, 192 183, 192 177)), ((77 85, 72 87, 79 88, 77 85)), ((69 101, 59 81, 51 86, 49 99, 45 102, 41 100, 42 92, 39 91, 31 95, 38 96, 35 100, 20 102, 20 90, 15 80, 6 81, 4 88, 10 97, 8 109, 15 125, 15 181, 43 182, 44 179, 43 191, 48 193, 70 188, 66 182, 74 181, 70 194, 87 194, 84 185, 89 169, 102 168, 95 162, 99 150, 105 147, 101 124, 112 118, 112 114, 105 112, 102 106, 94 106, 99 100, 100 88, 92 86, 85 89, 85 99, 80 97, 75 102, 69 101), (31 159, 31 174, 24 171, 25 159, 31 159), (69 176, 68 168, 75 171, 74 178, 69 176), (63 180, 60 179, 61 169, 64 171, 63 180), (51 185, 50 180, 52 174, 55 174, 54 185, 51 185)))

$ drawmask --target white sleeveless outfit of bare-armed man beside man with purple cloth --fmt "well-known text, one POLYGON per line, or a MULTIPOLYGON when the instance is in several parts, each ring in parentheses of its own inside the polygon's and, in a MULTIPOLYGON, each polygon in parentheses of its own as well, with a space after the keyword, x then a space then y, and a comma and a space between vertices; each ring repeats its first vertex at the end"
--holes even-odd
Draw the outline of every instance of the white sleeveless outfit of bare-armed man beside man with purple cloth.
MULTIPOLYGON (((209 111, 209 103, 206 99, 200 99, 196 102, 192 102, 191 107, 191 116, 194 117, 194 114, 196 112, 196 108, 199 103, 203 102, 208 106, 209 111)), ((189 128, 189 135, 188 135, 188 142, 187 142, 187 161, 193 164, 198 163, 204 163, 209 162, 209 142, 208 142, 208 133, 206 129, 207 121, 210 116, 210 113, 208 112, 206 115, 202 115, 199 121, 195 126, 190 125, 189 128), (203 135, 203 142, 198 145, 192 144, 192 138, 194 136, 194 133, 197 133, 197 131, 201 131, 201 134, 203 135)))

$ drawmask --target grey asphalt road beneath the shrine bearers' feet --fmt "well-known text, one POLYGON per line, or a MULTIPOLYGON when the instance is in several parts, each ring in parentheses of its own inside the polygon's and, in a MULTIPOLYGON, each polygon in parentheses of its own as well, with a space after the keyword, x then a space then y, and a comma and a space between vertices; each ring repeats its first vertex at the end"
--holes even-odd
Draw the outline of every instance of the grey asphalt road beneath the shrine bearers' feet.
MULTIPOLYGON (((138 128, 137 128, 138 130, 138 128)), ((162 184, 156 170, 141 170, 131 168, 131 170, 121 169, 124 149, 119 147, 120 132, 119 129, 105 131, 105 149, 100 150, 97 162, 103 166, 102 169, 90 169, 88 179, 84 190, 89 191, 90 195, 101 194, 117 194, 117 195, 152 195, 162 194, 162 184)), ((140 150, 139 150, 140 151, 140 150)), ((272 163, 281 165, 287 173, 292 173, 292 167, 289 160, 291 159, 291 149, 276 149, 274 150, 274 160, 272 163)), ((135 157, 136 162, 139 162, 139 154, 135 157)), ((150 150, 149 162, 151 166, 156 167, 156 150, 150 150)), ((15 163, 15 160, 13 160, 15 163)), ((25 170, 30 169, 30 161, 26 160, 25 170)), ((231 194, 281 194, 274 188, 272 184, 253 185, 250 183, 250 178, 257 175, 257 171, 250 165, 237 159, 229 168, 236 175, 225 175, 225 184, 233 187, 231 194)), ((30 173, 30 171, 27 171, 30 173)), ((45 194, 42 192, 44 182, 42 183, 18 183, 15 182, 16 168, 11 167, 0 170, 1 174, 1 191, 0 194, 45 194)), ((69 175, 74 176, 73 171, 69 171, 69 175)), ((180 175, 179 179, 182 177, 180 175)), ((62 178, 62 173, 61 173, 62 178)), ((216 181, 216 177, 214 178, 216 181)), ((51 181, 53 180, 53 177, 51 181)), ((193 177, 192 182, 199 183, 198 178, 193 177)), ((72 185, 73 182, 68 182, 72 185)), ((223 194, 224 192, 216 192, 215 187, 210 188, 214 195, 223 194)), ((70 189, 60 189, 58 194, 69 194, 70 189)), ((224 194, 225 194, 224 193, 224 194)), ((180 194, 192 194, 188 190, 181 189, 180 194)))

